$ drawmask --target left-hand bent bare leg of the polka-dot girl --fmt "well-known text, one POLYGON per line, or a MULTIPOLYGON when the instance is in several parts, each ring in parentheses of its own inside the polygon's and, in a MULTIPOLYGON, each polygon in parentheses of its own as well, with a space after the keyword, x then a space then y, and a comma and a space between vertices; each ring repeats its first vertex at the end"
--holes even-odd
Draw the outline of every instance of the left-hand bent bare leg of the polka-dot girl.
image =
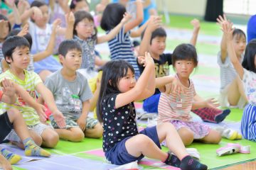
POLYGON ((143 154, 146 157, 159 159, 162 162, 168 157, 168 154, 162 152, 153 140, 142 134, 129 138, 129 140, 125 142, 125 147, 127 152, 134 157, 139 157, 143 154))

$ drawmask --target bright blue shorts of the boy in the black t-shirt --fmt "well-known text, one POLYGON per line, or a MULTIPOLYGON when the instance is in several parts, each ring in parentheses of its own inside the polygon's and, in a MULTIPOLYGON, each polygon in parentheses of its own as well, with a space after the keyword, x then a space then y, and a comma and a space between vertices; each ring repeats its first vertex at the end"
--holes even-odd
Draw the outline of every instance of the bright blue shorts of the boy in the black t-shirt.
POLYGON ((158 113, 158 104, 161 94, 155 94, 146 98, 143 102, 143 109, 147 113, 158 113))

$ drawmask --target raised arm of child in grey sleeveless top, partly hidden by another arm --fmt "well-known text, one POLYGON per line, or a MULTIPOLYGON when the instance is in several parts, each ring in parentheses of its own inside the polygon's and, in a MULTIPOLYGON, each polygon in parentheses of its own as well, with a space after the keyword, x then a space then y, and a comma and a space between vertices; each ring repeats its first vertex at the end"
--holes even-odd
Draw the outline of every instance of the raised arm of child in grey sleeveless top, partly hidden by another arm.
MULTIPOLYGON (((227 18, 225 17, 225 15, 222 16, 219 16, 217 18, 217 21, 218 21, 218 25, 220 26, 220 28, 223 27, 223 23, 224 22, 228 22, 227 18)), ((227 53, 227 42, 224 38, 224 35, 221 39, 221 43, 220 43, 220 57, 221 57, 221 61, 224 63, 225 62, 225 58, 227 57, 228 53, 227 53)))

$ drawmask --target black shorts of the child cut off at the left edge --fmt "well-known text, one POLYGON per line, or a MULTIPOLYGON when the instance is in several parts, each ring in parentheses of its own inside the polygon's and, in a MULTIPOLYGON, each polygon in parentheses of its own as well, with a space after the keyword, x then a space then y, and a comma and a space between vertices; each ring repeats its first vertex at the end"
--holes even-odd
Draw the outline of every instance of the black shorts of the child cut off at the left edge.
POLYGON ((14 125, 9 120, 7 112, 0 115, 0 143, 6 139, 11 130, 14 129, 14 125))

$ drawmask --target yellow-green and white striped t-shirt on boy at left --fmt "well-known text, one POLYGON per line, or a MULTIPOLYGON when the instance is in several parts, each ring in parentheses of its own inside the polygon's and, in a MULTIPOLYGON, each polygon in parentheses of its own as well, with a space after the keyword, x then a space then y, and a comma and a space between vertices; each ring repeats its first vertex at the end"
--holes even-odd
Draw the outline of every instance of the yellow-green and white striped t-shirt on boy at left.
MULTIPOLYGON (((36 100, 36 86, 40 83, 43 83, 38 74, 35 72, 28 72, 24 70, 25 79, 21 80, 18 79, 14 74, 10 72, 10 70, 7 70, 3 74, 0 74, 0 81, 3 79, 11 79, 16 84, 20 85, 28 91, 28 94, 32 98, 35 98, 36 100)), ((16 108, 18 111, 20 111, 23 115, 24 120, 26 121, 26 125, 36 125, 39 121, 39 116, 36 113, 35 109, 28 106, 28 104, 21 98, 21 96, 17 96, 18 100, 14 104, 7 104, 7 103, 1 103, 1 107, 4 109, 4 111, 7 111, 9 108, 16 108)))

